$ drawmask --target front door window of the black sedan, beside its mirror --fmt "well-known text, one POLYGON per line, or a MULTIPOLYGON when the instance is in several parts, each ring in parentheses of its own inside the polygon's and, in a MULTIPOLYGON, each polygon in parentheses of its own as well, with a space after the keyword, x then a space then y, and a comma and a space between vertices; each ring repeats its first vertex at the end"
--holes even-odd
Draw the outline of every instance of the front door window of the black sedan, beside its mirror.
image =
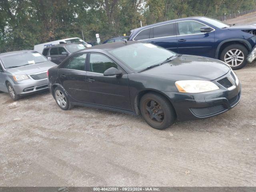
POLYGON ((90 72, 103 74, 108 68, 118 68, 117 64, 102 54, 90 54, 90 72))

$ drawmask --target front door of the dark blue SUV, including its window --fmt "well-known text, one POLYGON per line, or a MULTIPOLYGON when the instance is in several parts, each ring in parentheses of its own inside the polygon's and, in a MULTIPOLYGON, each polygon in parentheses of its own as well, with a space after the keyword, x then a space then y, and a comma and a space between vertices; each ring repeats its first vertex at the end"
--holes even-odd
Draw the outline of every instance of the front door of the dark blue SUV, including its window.
POLYGON ((178 53, 214 57, 214 29, 211 32, 200 32, 206 26, 197 21, 177 22, 178 53))

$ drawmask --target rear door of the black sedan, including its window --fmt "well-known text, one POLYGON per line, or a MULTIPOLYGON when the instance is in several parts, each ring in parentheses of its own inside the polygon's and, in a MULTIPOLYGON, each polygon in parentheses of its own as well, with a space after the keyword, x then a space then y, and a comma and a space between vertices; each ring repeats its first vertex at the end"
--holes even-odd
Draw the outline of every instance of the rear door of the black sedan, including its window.
POLYGON ((92 103, 86 83, 87 54, 77 54, 62 64, 58 77, 66 92, 77 102, 92 103))

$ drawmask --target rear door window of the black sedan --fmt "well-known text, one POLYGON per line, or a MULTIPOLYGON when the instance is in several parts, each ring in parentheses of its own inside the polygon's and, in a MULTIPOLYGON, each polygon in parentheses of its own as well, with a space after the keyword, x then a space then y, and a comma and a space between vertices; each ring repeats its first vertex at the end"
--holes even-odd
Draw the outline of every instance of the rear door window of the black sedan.
POLYGON ((70 60, 64 63, 62 68, 85 71, 84 68, 85 68, 86 55, 87 54, 85 53, 85 54, 79 54, 72 57, 70 60))

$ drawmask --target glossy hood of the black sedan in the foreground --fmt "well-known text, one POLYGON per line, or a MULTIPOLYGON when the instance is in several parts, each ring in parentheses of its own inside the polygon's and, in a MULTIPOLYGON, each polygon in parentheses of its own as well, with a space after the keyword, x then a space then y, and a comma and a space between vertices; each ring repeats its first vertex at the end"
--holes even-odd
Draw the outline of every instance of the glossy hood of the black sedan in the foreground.
POLYGON ((182 55, 170 62, 151 68, 142 74, 172 80, 215 80, 230 68, 222 61, 201 56, 182 55))

